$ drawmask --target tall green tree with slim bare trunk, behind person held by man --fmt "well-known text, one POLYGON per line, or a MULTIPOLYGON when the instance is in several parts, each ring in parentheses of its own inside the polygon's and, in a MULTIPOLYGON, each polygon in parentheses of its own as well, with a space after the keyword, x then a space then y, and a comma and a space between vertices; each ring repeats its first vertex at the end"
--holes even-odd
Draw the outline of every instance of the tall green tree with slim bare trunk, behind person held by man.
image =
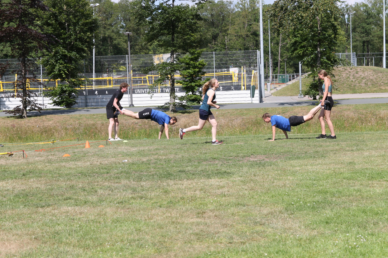
POLYGON ((145 41, 170 52, 170 63, 160 63, 156 68, 161 77, 159 79, 170 81, 170 111, 175 111, 175 73, 179 69, 175 58, 177 54, 201 45, 198 26, 201 1, 194 1, 192 6, 182 3, 175 5, 175 0, 136 0, 133 4, 132 12, 136 21, 148 27, 145 41))

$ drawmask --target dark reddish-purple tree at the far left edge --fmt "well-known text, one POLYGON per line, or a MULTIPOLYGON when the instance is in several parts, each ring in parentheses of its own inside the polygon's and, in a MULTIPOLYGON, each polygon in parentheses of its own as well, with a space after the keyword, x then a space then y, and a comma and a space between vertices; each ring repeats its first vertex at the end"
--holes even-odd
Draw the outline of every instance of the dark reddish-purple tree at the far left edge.
POLYGON ((21 97, 21 105, 7 113, 21 114, 27 118, 29 111, 40 112, 41 106, 36 104, 27 89, 27 81, 34 81, 35 76, 31 68, 33 63, 28 58, 38 50, 48 48, 48 43, 53 41, 49 33, 42 32, 38 14, 48 11, 41 0, 1 0, 0 7, 0 43, 12 45, 11 55, 20 60, 21 78, 16 82, 16 97, 21 97))

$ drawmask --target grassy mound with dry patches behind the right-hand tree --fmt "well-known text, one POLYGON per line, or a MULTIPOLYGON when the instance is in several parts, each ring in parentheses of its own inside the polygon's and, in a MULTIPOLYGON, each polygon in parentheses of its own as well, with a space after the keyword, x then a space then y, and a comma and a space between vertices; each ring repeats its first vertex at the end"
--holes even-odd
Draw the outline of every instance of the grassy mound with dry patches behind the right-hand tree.
MULTIPOLYGON (((388 69, 358 66, 338 67, 334 70, 333 94, 388 92, 388 69)), ((311 78, 302 79, 302 91, 307 88, 311 78)), ((297 96, 299 82, 274 92, 274 96, 297 96)))

